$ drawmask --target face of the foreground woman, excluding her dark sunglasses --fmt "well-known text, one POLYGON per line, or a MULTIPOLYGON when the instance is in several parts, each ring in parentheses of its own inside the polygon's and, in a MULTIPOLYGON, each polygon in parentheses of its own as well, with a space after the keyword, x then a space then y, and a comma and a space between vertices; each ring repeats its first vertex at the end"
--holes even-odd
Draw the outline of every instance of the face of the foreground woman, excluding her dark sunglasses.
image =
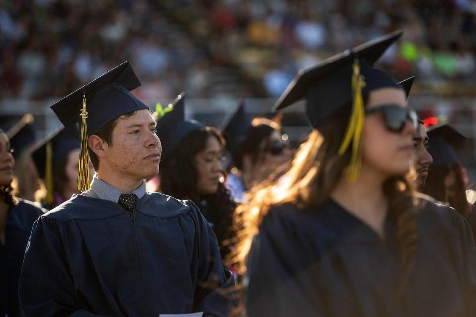
MULTIPOLYGON (((405 92, 397 88, 381 88, 369 94, 367 110, 382 106, 408 109, 405 92)), ((396 116, 393 116, 394 119, 396 116)), ((406 118, 406 117, 404 117, 406 118)), ((376 111, 365 116, 362 133, 362 169, 367 166, 383 178, 407 173, 413 159, 413 136, 416 127, 405 120, 400 131, 387 127, 386 114, 376 111)))

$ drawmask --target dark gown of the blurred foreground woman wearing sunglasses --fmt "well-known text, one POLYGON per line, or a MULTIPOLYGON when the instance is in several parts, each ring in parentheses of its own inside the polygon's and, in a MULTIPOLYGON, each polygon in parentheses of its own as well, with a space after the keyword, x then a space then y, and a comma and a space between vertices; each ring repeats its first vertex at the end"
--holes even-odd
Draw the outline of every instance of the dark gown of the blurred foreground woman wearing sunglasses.
POLYGON ((248 316, 476 316, 476 252, 466 220, 427 202, 417 216, 416 265, 401 301, 394 223, 387 218, 383 243, 332 200, 317 210, 273 208, 248 257, 248 316))

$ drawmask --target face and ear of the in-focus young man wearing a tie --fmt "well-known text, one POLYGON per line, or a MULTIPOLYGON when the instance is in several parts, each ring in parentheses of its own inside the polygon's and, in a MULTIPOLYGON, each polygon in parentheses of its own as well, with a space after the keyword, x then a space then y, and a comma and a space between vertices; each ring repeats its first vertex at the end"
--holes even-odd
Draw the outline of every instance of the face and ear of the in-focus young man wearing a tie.
POLYGON ((139 110, 130 117, 119 117, 113 129, 112 144, 105 144, 104 163, 134 180, 157 175, 162 147, 155 134, 155 126, 147 109, 139 110))

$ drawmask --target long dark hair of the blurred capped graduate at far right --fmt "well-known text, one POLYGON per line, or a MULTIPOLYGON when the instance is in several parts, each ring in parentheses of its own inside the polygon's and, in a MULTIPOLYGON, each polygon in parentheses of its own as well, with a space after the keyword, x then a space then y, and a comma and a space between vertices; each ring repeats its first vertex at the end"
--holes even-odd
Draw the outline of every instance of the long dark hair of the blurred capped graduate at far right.
POLYGON ((468 221, 470 220, 471 205, 466 200, 466 184, 460 164, 453 163, 443 166, 430 166, 423 192, 436 200, 448 203, 451 207, 455 208, 458 213, 468 219, 468 221), (454 188, 452 189, 454 194, 448 196, 445 180, 451 173, 453 173, 455 178, 454 188))

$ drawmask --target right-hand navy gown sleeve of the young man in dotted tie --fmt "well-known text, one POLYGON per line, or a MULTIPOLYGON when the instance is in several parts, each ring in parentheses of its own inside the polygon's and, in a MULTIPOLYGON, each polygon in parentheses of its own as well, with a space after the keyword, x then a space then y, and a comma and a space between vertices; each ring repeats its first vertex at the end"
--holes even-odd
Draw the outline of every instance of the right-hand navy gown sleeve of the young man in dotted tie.
POLYGON ((193 202, 190 205, 196 229, 193 262, 198 272, 194 311, 203 312, 203 316, 226 317, 235 292, 234 278, 223 265, 212 228, 193 202))

